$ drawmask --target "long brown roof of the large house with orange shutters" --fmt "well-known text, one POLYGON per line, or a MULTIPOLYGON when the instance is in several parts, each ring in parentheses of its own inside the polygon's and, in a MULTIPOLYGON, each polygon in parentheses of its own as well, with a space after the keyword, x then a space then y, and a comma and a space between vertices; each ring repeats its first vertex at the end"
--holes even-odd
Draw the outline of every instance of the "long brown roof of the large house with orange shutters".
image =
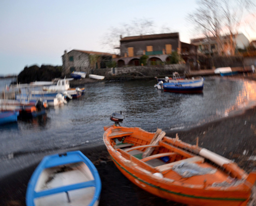
POLYGON ((153 39, 169 39, 178 38, 178 33, 160 33, 158 35, 141 35, 133 37, 124 37, 120 42, 130 42, 130 41, 143 41, 143 40, 153 40, 153 39))

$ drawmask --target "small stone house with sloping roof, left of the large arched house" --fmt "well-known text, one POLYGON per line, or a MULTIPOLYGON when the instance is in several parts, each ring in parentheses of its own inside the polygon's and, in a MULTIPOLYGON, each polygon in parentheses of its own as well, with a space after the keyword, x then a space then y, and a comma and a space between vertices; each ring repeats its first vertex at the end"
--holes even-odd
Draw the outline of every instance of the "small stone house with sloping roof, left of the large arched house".
POLYGON ((73 71, 89 73, 90 69, 106 68, 106 63, 111 61, 111 59, 112 54, 109 53, 90 52, 76 49, 73 49, 67 53, 65 50, 64 55, 62 56, 62 74, 63 76, 69 75, 73 71), (90 62, 90 55, 95 55, 96 57, 93 65, 92 62, 90 62))

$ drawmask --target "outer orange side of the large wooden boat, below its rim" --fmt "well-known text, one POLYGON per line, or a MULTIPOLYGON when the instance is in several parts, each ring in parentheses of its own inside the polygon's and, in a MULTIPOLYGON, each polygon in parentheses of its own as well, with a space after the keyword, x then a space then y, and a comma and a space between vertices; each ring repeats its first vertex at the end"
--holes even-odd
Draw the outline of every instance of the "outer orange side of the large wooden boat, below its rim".
POLYGON ((220 197, 220 193, 223 192, 213 193, 212 191, 210 191, 208 194, 209 196, 204 196, 205 194, 201 194, 202 196, 200 196, 200 192, 195 192, 195 190, 193 189, 191 192, 189 192, 186 191, 184 187, 178 186, 174 188, 165 185, 164 188, 162 187, 163 185, 159 184, 159 182, 152 181, 145 178, 145 176, 134 173, 134 170, 132 170, 130 167, 122 165, 121 162, 117 162, 115 159, 113 159, 113 161, 116 167, 121 171, 121 173, 125 177, 127 177, 132 183, 139 186, 143 190, 164 199, 198 206, 245 206, 249 201, 249 191, 245 192, 244 194, 241 194, 240 191, 230 192, 229 194, 225 194, 225 196, 227 195, 226 197, 224 195, 221 195, 220 197))

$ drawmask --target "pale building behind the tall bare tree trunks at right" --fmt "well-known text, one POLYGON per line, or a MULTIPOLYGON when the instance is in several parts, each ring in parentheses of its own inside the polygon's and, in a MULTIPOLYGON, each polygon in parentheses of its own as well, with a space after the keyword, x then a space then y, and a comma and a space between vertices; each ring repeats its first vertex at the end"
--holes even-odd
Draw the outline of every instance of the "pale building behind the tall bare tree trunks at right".
MULTIPOLYGON (((223 42, 223 46, 221 48, 221 53, 225 55, 230 55, 230 36, 222 36, 220 40, 223 42)), ((233 37, 233 41, 235 41, 235 37, 233 37)), ((217 41, 215 37, 210 38, 199 38, 199 39, 191 39, 191 44, 198 46, 198 54, 204 55, 216 55, 217 54, 217 41)), ((236 37, 236 49, 246 49, 249 46, 249 40, 243 33, 239 33, 236 37)))

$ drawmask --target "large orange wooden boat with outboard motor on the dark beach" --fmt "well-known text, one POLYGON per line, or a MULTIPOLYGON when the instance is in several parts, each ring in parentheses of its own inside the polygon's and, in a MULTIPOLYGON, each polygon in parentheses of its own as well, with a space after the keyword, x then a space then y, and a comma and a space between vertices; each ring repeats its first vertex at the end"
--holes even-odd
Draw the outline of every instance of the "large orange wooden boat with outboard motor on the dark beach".
MULTIPOLYGON (((111 120, 118 121, 113 114, 111 120)), ((165 132, 150 133, 119 124, 104 130, 104 144, 117 168, 149 193, 189 205, 245 206, 250 200, 256 172, 248 175, 229 159, 164 136, 165 132), (159 137, 160 141, 152 144, 159 137), (145 157, 146 153, 149 156, 145 157), (188 177, 190 166, 192 176, 188 177), (193 174, 194 167, 198 174, 193 174), (179 169, 183 169, 181 173, 179 169)))

